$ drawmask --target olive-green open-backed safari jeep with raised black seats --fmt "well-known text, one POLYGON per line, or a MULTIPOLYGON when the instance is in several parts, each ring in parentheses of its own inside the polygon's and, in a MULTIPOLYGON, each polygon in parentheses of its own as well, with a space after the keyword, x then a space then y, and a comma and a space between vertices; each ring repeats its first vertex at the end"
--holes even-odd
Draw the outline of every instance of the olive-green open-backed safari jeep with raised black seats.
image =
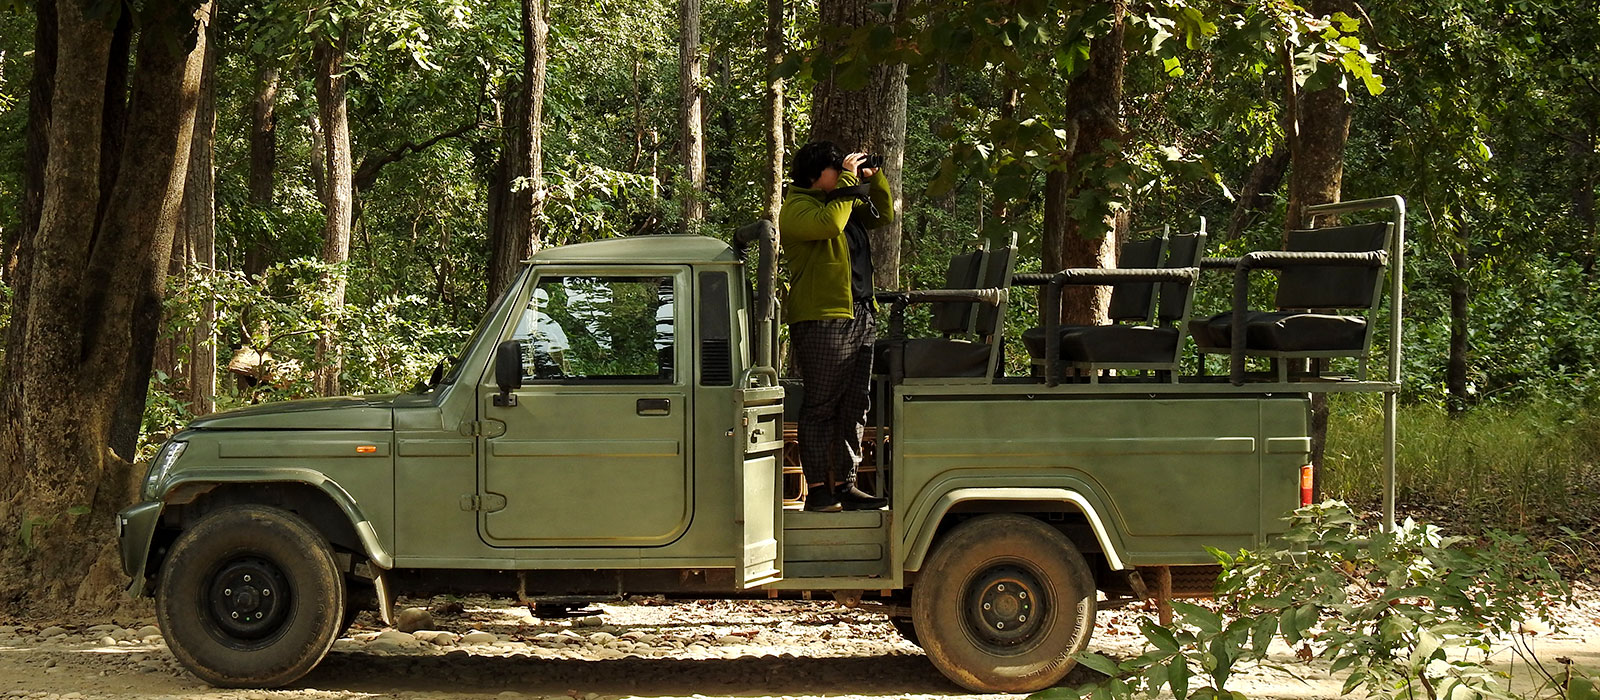
POLYGON ((218 686, 301 678, 395 595, 486 591, 542 609, 826 595, 878 606, 968 689, 1042 689, 1102 598, 1205 590, 1203 547, 1282 531, 1309 499, 1310 393, 1382 392, 1392 435, 1403 203, 1310 216, 1363 211, 1240 259, 1205 259, 1203 224, 1130 243, 1115 270, 1013 275, 1014 245, 986 246, 952 259, 946 289, 880 294, 872 476, 890 507, 848 513, 784 507, 786 398, 803 385, 776 369, 770 225, 738 251, 686 235, 546 249, 432 385, 174 435, 120 515, 131 591, 218 686), (1205 268, 1234 272, 1235 308, 1190 318, 1205 268), (1250 310, 1266 268, 1277 308, 1250 310), (1069 284, 1114 284, 1117 323, 1045 318, 1022 334, 1034 371, 1005 376, 1008 297, 1050 307, 1069 284), (904 337, 915 304, 939 337, 904 337), (1184 376, 1190 336, 1202 371, 1184 376), (1205 353, 1229 374, 1205 376, 1205 353), (1251 356, 1270 364, 1250 372, 1251 356))

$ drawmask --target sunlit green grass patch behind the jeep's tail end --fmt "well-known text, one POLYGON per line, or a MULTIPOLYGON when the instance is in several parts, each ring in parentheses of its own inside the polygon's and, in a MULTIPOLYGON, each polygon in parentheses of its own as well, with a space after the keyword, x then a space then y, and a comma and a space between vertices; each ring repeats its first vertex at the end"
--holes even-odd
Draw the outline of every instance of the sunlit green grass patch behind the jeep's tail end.
MULTIPOLYGON (((1326 497, 1374 503, 1382 494, 1382 401, 1330 401, 1326 497)), ((1590 523, 1600 502, 1600 408, 1528 401, 1450 416, 1402 406, 1398 500, 1456 516, 1530 527, 1590 523)))

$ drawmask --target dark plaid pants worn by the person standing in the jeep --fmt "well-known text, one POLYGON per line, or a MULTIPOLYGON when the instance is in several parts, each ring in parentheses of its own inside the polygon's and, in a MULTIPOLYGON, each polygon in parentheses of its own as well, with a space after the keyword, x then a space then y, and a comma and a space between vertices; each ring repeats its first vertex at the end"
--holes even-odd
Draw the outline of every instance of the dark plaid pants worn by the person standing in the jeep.
POLYGON ((861 436, 872 392, 872 307, 856 304, 856 318, 789 324, 795 364, 805 380, 800 401, 800 468, 806 483, 856 483, 861 436))

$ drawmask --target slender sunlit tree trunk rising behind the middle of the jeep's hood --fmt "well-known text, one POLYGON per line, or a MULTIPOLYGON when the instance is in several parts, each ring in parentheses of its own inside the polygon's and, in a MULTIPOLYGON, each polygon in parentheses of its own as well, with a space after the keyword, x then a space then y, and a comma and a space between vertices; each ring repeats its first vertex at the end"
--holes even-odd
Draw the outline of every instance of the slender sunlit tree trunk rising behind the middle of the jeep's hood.
POLYGON ((352 187, 350 163, 350 117, 346 99, 344 75, 344 42, 346 35, 317 37, 312 50, 312 62, 317 67, 317 110, 325 131, 325 168, 326 195, 323 209, 328 214, 323 225, 322 262, 331 265, 323 276, 322 289, 328 294, 328 318, 323 320, 322 332, 317 336, 317 376, 315 387, 322 396, 336 396, 339 390, 339 374, 344 369, 344 358, 339 348, 338 320, 344 312, 344 288, 347 275, 344 264, 350 257, 350 222, 352 187))

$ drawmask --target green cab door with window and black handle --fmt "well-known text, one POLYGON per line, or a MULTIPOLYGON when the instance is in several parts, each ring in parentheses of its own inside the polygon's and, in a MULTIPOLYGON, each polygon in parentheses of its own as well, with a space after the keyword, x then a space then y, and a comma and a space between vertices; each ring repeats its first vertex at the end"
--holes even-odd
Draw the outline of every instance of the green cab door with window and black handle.
POLYGON ((523 387, 478 387, 480 532, 502 547, 658 547, 693 513, 688 268, 538 267, 506 339, 523 387))

